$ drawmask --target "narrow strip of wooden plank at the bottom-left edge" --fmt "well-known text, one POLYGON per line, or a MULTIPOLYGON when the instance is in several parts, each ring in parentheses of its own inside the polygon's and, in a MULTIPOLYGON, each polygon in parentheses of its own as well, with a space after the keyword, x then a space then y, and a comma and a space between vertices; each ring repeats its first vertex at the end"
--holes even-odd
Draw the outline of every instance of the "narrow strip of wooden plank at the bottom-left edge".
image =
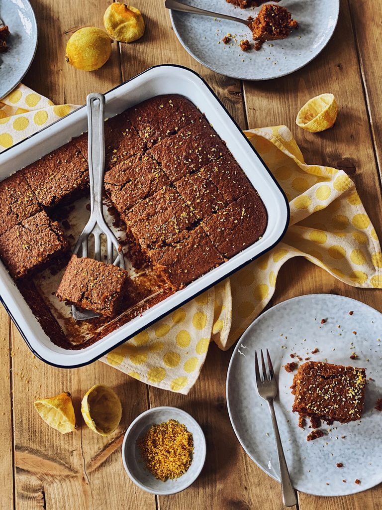
POLYGON ((13 508, 13 428, 11 395, 11 352, 9 337, 10 319, 0 305, 0 388, 2 408, 0 410, 0 508, 13 508))

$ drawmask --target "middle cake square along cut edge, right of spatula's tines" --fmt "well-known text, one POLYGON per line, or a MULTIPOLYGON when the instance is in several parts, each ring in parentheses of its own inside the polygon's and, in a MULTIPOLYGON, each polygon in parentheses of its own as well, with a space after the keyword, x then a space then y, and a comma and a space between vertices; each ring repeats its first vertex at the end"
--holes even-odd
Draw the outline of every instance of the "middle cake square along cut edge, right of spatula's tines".
POLYGON ((151 249, 176 242, 197 221, 179 193, 165 187, 133 207, 122 219, 141 247, 151 249))

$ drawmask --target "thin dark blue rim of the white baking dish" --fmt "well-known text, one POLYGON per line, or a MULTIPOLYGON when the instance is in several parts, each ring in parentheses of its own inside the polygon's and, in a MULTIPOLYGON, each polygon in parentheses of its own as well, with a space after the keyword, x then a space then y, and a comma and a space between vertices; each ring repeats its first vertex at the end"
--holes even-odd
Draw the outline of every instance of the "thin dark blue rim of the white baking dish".
MULTIPOLYGON (((21 327, 19 326, 18 322, 16 321, 16 319, 14 318, 13 314, 10 312, 10 310, 8 309, 7 307, 7 304, 6 302, 4 301, 2 295, 0 294, 0 302, 4 305, 4 308, 6 309, 8 315, 11 317, 13 323, 15 324, 17 330, 19 331, 21 337, 24 339, 26 345, 28 345, 28 347, 30 348, 30 350, 33 352, 33 354, 41 361, 43 361, 44 363, 46 363, 47 365, 50 365, 52 367, 57 367, 57 368, 67 368, 67 369, 71 369, 71 368, 80 368, 80 367, 85 367, 87 365, 90 365, 91 363, 94 363, 95 361, 99 360, 100 358, 102 358, 102 356, 108 354, 109 352, 111 352, 112 350, 116 349, 117 347, 119 347, 120 345, 122 345, 123 343, 127 342, 128 340, 130 340, 130 338, 133 338, 135 335, 138 335, 141 331, 143 331, 144 329, 148 328, 149 326, 151 326, 152 324, 154 324, 155 322, 157 322, 158 320, 162 319, 163 317, 166 317, 167 315, 171 314, 174 310, 178 309, 179 307, 181 307, 183 304, 189 302, 190 300, 194 299, 195 297, 199 296, 200 294, 203 294, 203 292, 205 292, 206 290, 214 287, 216 284, 222 282, 223 280, 225 280, 226 278, 228 278, 229 276, 231 276, 231 274, 233 273, 236 273, 237 271, 239 271, 240 269, 242 269, 243 267, 247 266, 248 264, 250 264, 251 262, 253 262, 254 260, 258 259, 259 257, 261 257, 264 253, 267 253, 268 251, 270 251, 272 248, 274 248, 280 241, 281 239, 284 237, 284 234, 286 233, 287 231, 287 228, 289 226, 289 219, 290 219, 290 210, 289 210, 289 203, 288 203, 288 200, 287 200, 287 197, 284 193, 284 190, 281 188, 281 186, 279 185, 279 183, 277 182, 277 180, 275 179, 274 175, 272 174, 272 172, 269 170, 269 168, 266 166, 266 164, 264 163, 263 159, 261 158, 261 156, 259 155, 258 151, 255 149, 255 147, 252 145, 252 143, 249 141, 249 139, 244 135, 244 133, 242 132, 240 126, 237 124, 237 122, 235 121, 235 119, 232 117, 232 115, 229 113, 229 111, 226 109, 226 107, 223 105, 222 101, 219 99, 219 97, 215 94, 215 92, 212 90, 212 88, 208 85, 208 83, 204 80, 204 78, 201 77, 201 75, 199 73, 197 73, 196 71, 194 71, 193 69, 189 69, 188 67, 186 66, 182 66, 182 65, 179 65, 179 64, 158 64, 158 65, 155 65, 155 66, 152 66, 152 67, 149 67, 148 69, 142 71, 141 73, 135 75, 134 77, 130 78, 129 80, 126 80, 124 81, 123 83, 120 83, 119 85, 117 85, 116 87, 113 87, 112 89, 108 90, 107 92, 105 92, 105 96, 107 97, 107 94, 118 89, 119 87, 121 87, 122 85, 124 85, 125 83, 128 83, 130 82, 131 80, 134 80, 135 78, 141 76, 142 74, 145 74, 146 72, 150 71, 151 69, 155 69, 157 67, 178 67, 180 69, 184 69, 188 72, 192 72, 193 74, 196 75, 197 78, 199 78, 199 80, 201 80, 203 82, 203 84, 207 87, 207 89, 209 90, 209 92, 213 95, 213 97, 219 101, 219 104, 221 105, 221 107, 224 109, 224 111, 227 113, 227 115, 229 116, 229 118, 232 120, 232 122, 234 123, 234 125, 236 126, 237 130, 239 131, 239 133, 241 134, 241 136, 245 139, 245 141, 247 141, 247 143, 249 144, 249 146, 252 148, 252 150, 255 152, 256 156, 259 158, 260 162, 262 163, 264 169, 268 172, 269 176, 271 177, 272 181, 276 184, 276 187, 278 188, 278 190, 280 191, 282 197, 284 198, 284 201, 285 201, 285 206, 286 206, 286 221, 285 221, 285 227, 284 227, 284 230, 283 232, 281 233, 280 237, 273 243, 271 244, 270 246, 268 246, 265 250, 261 251, 260 253, 257 253, 255 257, 253 257, 252 259, 249 259, 247 261, 245 261, 244 263, 240 264, 239 266, 237 266, 235 269, 233 269, 232 271, 230 271, 229 273, 225 274, 224 276, 220 277, 220 278, 217 278, 212 284, 210 285, 206 285, 206 287, 204 287, 202 290, 196 292, 195 294, 193 294, 192 296, 189 296, 187 297, 186 299, 184 299, 184 301, 182 301, 181 303, 178 303, 174 308, 171 308, 170 310, 168 310, 165 314, 161 314, 159 315, 158 317, 156 317, 154 320, 151 320, 149 322, 147 322, 147 324, 145 324, 143 327, 137 329, 136 331, 134 331, 134 333, 132 335, 128 335, 127 337, 125 337, 123 340, 117 342, 115 345, 113 345, 113 347, 110 347, 110 348, 107 348, 105 349, 101 354, 97 354, 93 359, 89 360, 89 361, 86 361, 84 363, 78 363, 78 364, 74 364, 74 365, 59 365, 57 363, 52 363, 50 361, 47 361, 45 360, 32 346, 31 344, 29 343, 28 341, 28 338, 26 338, 26 335, 24 334, 23 330, 21 329, 21 327)), ((80 106, 79 108, 77 108, 76 110, 73 110, 72 112, 68 113, 68 115, 66 115, 65 117, 68 117, 69 115, 71 115, 72 113, 74 112, 77 112, 78 110, 80 110, 81 108, 86 108, 86 105, 83 105, 83 106, 80 106)), ((63 117, 63 118, 65 118, 63 117)), ((12 145, 12 147, 9 147, 7 149, 5 149, 2 154, 4 154, 4 152, 6 152, 7 150, 13 148, 13 147, 16 147, 17 145, 23 143, 25 140, 29 140, 30 138, 34 137, 37 133, 41 133, 42 131, 48 129, 48 127, 52 126, 53 124, 56 124, 57 122, 60 122, 60 120, 62 119, 58 119, 58 120, 55 120, 54 122, 52 122, 51 124, 49 124, 48 126, 45 126, 43 127, 43 129, 39 130, 38 132, 36 133, 33 133, 33 135, 30 135, 29 137, 26 137, 24 138, 24 140, 21 140, 17 143, 15 143, 14 145, 12 145)), ((100 342, 102 341, 102 339, 99 339, 97 342, 100 342)), ((80 351, 81 349, 66 349, 68 351, 80 351)))

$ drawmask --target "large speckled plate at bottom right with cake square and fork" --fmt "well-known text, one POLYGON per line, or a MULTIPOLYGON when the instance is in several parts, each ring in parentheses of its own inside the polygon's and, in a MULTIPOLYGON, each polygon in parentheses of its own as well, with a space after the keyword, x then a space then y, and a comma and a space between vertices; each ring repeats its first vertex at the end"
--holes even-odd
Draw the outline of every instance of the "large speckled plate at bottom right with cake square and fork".
MULTIPOLYGON (((342 496, 382 481, 382 414, 374 409, 382 397, 382 314, 343 296, 313 294, 284 301, 266 311, 238 342, 227 376, 228 411, 236 436, 252 460, 280 480, 267 404, 255 387, 255 350, 268 348, 279 381, 275 409, 292 483, 298 491, 342 496), (353 311, 352 315, 349 312, 353 311), (321 319, 327 319, 321 324, 321 319), (354 334, 356 331, 357 334, 354 334), (315 348, 319 352, 312 354, 315 348), (350 355, 356 352, 357 360, 350 355), (307 441, 292 413, 293 373, 283 365, 291 353, 303 360, 365 367, 368 380, 361 421, 322 424, 326 435, 307 441), (337 463, 343 467, 338 468, 337 463), (361 480, 358 485, 356 479, 361 480), (346 480, 346 481, 343 481, 346 480)), ((304 361, 303 361, 304 363, 304 361)))

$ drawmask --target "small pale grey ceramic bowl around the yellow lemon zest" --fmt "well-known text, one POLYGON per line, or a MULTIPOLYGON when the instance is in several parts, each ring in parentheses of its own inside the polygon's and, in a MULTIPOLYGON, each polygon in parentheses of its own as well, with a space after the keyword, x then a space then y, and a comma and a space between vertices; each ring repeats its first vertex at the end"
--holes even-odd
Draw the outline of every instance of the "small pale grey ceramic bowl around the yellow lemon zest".
POLYGON ((122 443, 122 461, 126 473, 141 489, 151 494, 167 495, 184 491, 198 478, 206 458, 206 440, 199 423, 185 411, 177 407, 153 407, 139 415, 126 430, 122 443), (184 475, 165 482, 157 480, 146 468, 137 440, 154 423, 177 420, 183 423, 193 435, 194 453, 190 467, 184 475))

